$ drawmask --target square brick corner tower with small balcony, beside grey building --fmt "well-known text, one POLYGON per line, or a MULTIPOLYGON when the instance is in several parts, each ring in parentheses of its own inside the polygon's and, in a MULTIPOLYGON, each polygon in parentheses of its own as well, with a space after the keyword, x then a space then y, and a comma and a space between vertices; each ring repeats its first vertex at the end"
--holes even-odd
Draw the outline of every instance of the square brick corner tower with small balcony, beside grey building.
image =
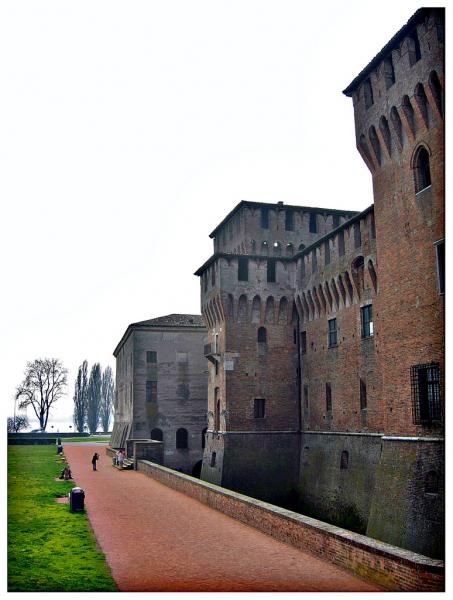
POLYGON ((354 216, 240 202, 211 233, 196 272, 208 327, 208 432, 202 479, 284 502, 301 429, 294 256, 354 216))

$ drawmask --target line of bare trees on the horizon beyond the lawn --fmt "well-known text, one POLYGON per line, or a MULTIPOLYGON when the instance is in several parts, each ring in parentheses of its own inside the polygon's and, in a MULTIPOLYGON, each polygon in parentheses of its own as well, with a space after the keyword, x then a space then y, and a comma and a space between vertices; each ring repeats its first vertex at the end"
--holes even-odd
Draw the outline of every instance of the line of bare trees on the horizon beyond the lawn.
MULTIPOLYGON (((19 402, 19 410, 31 406, 40 428, 45 430, 52 407, 65 393, 67 377, 67 369, 56 358, 28 362, 24 379, 16 388, 15 400, 19 402)), ((95 433, 101 426, 106 433, 113 415, 114 397, 115 383, 111 367, 102 370, 99 363, 94 363, 88 375, 88 361, 84 360, 74 383, 75 429, 95 433)), ((26 415, 8 417, 8 431, 17 432, 27 427, 26 415)))

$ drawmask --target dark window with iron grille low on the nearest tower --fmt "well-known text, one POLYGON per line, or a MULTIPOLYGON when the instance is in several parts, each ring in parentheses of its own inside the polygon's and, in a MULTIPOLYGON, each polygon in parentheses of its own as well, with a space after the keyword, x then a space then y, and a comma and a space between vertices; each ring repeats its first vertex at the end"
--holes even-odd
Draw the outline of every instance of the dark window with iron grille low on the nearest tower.
POLYGON ((411 367, 414 423, 429 425, 440 422, 440 365, 430 363, 411 367))

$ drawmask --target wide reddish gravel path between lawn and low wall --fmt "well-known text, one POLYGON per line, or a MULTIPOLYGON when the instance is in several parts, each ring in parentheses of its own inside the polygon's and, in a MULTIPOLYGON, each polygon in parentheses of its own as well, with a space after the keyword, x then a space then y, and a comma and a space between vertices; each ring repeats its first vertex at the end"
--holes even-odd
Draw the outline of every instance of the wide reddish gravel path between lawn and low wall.
POLYGON ((379 591, 135 471, 99 447, 64 448, 121 591, 379 591))

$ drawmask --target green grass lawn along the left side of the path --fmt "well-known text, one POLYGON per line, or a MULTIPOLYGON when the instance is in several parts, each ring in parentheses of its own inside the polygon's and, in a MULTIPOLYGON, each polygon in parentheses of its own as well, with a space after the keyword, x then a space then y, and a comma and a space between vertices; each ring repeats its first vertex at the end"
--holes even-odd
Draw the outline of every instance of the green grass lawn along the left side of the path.
POLYGON ((73 483, 55 446, 8 447, 8 591, 115 591, 85 512, 55 498, 73 483))

